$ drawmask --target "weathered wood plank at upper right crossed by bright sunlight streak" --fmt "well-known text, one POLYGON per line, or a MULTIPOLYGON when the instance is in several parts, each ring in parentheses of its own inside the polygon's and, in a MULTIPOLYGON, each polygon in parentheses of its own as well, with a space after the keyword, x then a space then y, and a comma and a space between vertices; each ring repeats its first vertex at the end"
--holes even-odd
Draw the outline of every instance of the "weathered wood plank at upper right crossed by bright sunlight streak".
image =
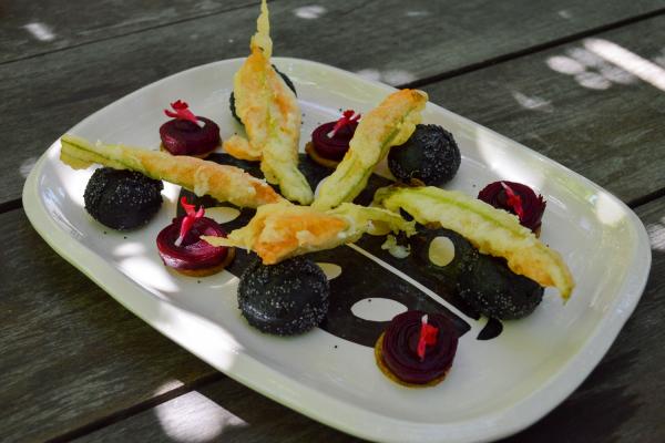
POLYGON ((665 187, 664 41, 658 17, 423 89, 632 202, 665 187))

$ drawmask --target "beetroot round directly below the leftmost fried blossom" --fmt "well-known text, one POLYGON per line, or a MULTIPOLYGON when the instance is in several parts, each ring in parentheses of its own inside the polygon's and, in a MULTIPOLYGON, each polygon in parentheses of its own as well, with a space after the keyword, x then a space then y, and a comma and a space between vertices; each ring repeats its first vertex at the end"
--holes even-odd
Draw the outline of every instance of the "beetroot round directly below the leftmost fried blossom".
POLYGON ((196 270, 219 266, 228 255, 228 248, 212 246, 200 237, 226 237, 226 233, 212 218, 196 218, 185 235, 182 244, 176 246, 184 217, 173 219, 157 235, 157 249, 164 265, 178 270, 196 270))

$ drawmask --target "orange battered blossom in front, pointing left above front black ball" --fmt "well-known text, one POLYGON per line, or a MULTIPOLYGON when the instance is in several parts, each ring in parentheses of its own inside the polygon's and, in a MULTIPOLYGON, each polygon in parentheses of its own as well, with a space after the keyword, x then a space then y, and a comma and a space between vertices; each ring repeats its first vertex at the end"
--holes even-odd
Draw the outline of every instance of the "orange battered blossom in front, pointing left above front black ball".
POLYGON ((247 226, 232 231, 227 238, 202 238, 214 246, 253 250, 265 265, 274 265, 288 257, 355 241, 370 228, 371 220, 386 223, 395 231, 409 235, 415 231, 413 223, 382 208, 347 203, 325 213, 310 206, 278 203, 259 207, 247 226))

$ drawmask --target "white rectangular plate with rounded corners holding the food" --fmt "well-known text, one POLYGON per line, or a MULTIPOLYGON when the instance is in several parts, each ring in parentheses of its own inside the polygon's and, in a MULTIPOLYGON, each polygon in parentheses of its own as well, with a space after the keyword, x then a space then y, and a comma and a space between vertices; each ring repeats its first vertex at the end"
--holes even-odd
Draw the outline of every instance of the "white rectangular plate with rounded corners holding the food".
MULTIPOLYGON (((161 80, 70 132, 154 148, 166 120, 162 110, 182 99, 198 115, 219 123, 227 138, 239 131, 228 95, 241 63, 221 61, 161 80)), ((301 144, 317 123, 337 119, 340 109, 364 113, 393 91, 319 63, 275 59, 275 64, 298 91, 305 115, 301 144)), ((60 163, 55 142, 30 174, 23 205, 49 245, 124 307, 258 392, 370 440, 488 441, 535 422, 584 380, 635 308, 651 251, 635 214, 597 185, 434 104, 428 104, 423 120, 446 127, 460 145, 462 165, 447 188, 475 195, 490 182, 510 179, 545 197, 541 238, 563 255, 577 284, 566 305, 548 290, 533 315, 504 322, 503 333, 493 340, 477 339, 485 320, 464 318, 471 330, 460 339, 447 380, 434 388, 408 389, 389 381, 370 348, 320 329, 293 338, 258 332, 239 315, 237 278, 227 271, 197 282, 166 270, 155 237, 175 214, 178 189, 173 185, 166 185, 165 203, 146 227, 129 234, 104 229, 83 209, 92 171, 60 163)))

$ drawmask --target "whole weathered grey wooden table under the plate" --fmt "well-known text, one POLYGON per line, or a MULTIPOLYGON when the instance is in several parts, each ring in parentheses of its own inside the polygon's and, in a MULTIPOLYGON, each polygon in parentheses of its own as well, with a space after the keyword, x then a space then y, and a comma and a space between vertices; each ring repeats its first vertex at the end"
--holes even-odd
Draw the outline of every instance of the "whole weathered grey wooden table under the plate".
MULTIPOLYGON (((34 161, 81 119, 245 55, 256 1, 50 3, 0 4, 0 440, 357 441, 152 330, 21 209, 34 161)), ((276 54, 423 89, 634 208, 653 253, 642 301, 577 391, 508 441, 665 441, 663 0, 276 0, 270 12, 276 54)))

